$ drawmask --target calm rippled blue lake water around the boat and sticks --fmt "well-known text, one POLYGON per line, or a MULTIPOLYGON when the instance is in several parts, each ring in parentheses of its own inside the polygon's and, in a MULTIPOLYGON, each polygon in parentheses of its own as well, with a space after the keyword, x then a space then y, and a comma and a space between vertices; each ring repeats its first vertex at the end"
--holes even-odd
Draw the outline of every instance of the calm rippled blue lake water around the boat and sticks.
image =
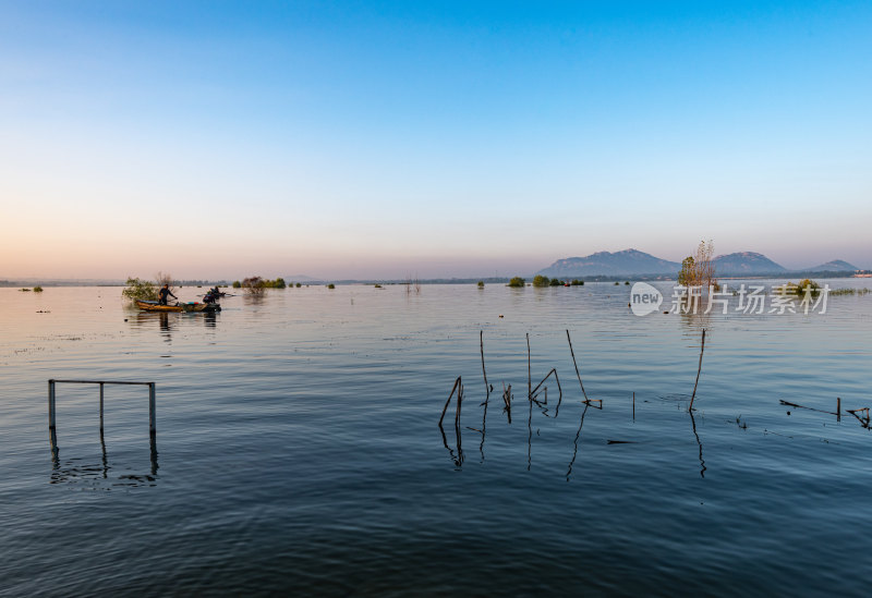
POLYGON ((872 406, 872 295, 708 317, 628 297, 312 286, 209 317, 0 289, 0 594, 868 595, 872 436, 824 412, 872 406), (554 367, 562 390, 532 408, 526 333, 532 383, 554 367), (97 389, 66 385, 52 460, 49 378, 155 381, 157 455, 144 388, 107 387, 101 444, 97 389))

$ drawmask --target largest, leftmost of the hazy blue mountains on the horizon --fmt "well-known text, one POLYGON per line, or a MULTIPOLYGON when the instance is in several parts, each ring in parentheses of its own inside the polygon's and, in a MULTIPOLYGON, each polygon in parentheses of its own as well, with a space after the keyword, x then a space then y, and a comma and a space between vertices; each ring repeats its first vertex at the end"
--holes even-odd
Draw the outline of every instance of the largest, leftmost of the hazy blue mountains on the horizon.
POLYGON ((536 273, 550 278, 630 274, 676 274, 681 265, 637 251, 597 252, 585 257, 558 259, 536 273))

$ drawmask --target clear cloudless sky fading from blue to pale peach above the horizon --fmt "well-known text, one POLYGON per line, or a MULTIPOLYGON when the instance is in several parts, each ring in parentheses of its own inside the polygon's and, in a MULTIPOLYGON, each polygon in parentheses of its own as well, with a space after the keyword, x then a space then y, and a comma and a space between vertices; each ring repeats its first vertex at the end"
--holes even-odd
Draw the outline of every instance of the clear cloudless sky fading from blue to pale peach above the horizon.
POLYGON ((872 267, 872 2, 5 2, 0 277, 872 267))

